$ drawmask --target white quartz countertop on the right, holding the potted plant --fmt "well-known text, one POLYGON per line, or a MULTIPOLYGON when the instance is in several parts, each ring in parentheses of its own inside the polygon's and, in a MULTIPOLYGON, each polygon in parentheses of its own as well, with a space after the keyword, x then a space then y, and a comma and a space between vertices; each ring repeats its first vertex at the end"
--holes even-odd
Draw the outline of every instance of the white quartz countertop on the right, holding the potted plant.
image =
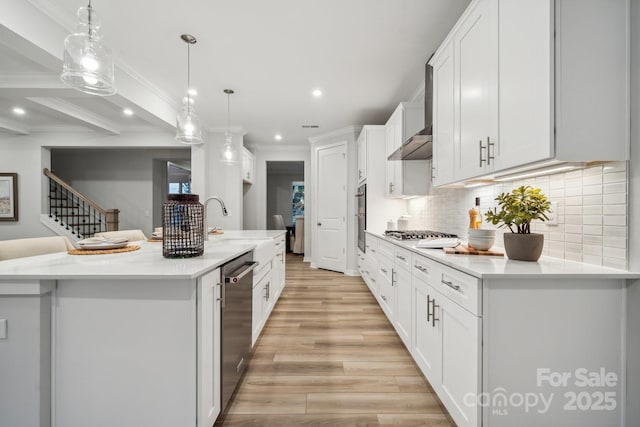
POLYGON ((370 234, 479 279, 531 279, 541 276, 545 278, 640 278, 640 273, 637 272, 544 256, 538 262, 527 262, 513 261, 506 255, 499 257, 446 254, 442 249, 416 248, 417 240, 397 240, 384 235, 370 234))

